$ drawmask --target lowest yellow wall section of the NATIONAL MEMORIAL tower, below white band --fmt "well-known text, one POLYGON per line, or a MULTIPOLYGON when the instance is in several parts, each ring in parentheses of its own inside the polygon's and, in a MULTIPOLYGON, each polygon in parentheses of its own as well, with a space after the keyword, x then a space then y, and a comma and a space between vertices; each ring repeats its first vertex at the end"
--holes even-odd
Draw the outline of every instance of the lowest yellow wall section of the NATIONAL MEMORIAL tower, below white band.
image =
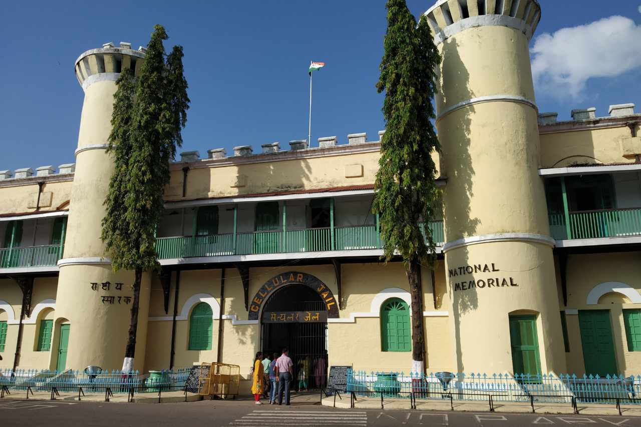
POLYGON ((448 278, 453 323, 451 343, 459 372, 511 372, 509 314, 538 314, 537 332, 543 373, 565 373, 563 337, 554 258, 549 246, 529 242, 476 244, 447 253, 445 266, 494 263, 496 272, 472 272, 448 278), (474 287, 454 291, 455 283, 488 278, 518 286, 474 287), (512 279, 512 281, 511 281, 512 279), (491 357, 490 357, 491 355, 491 357))

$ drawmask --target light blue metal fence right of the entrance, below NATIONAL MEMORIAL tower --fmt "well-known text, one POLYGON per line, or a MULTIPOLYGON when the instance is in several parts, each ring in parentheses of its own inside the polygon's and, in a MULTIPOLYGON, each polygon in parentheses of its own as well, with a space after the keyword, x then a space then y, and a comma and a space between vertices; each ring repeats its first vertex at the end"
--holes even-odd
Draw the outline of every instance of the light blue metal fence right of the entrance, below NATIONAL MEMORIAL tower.
POLYGON ((641 376, 365 373, 349 371, 354 396, 504 402, 641 404, 641 376))

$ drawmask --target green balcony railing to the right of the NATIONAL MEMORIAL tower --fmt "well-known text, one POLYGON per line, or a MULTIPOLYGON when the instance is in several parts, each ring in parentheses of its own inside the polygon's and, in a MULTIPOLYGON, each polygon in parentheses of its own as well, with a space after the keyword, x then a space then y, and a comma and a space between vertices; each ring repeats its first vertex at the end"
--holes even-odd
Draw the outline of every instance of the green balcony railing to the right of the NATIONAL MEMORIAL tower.
POLYGON ((549 215, 550 231, 556 240, 641 235, 641 208, 570 212, 569 227, 564 216, 549 215))

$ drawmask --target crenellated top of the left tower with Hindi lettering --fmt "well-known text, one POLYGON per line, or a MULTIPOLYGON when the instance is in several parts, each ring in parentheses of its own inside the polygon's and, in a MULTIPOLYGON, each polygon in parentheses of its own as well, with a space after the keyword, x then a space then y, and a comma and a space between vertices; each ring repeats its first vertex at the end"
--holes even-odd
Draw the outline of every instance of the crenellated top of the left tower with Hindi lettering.
POLYGON ((78 56, 76 60, 76 78, 83 90, 96 81, 117 79, 122 69, 131 68, 135 74, 140 72, 147 49, 131 49, 131 43, 121 42, 115 47, 112 42, 103 44, 99 49, 91 49, 78 56))

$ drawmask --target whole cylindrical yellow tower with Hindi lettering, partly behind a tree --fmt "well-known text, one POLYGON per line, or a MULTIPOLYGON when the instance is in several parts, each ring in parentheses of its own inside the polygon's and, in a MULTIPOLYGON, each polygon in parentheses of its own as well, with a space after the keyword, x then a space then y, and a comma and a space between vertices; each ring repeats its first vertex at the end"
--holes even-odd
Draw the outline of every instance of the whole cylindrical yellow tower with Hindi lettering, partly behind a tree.
MULTIPOLYGON (((54 338, 54 345, 63 347, 60 339, 68 342, 66 356, 52 355, 53 368, 122 367, 133 300, 133 272, 114 273, 100 239, 103 203, 113 172, 113 160, 105 150, 111 131, 115 81, 127 67, 138 74, 144 56, 143 48, 136 51, 128 43, 121 43, 120 47, 108 43, 76 60, 76 77, 85 91, 85 101, 64 256, 58 262, 54 335, 59 338, 54 338), (59 332, 65 323, 69 324, 65 328, 67 337, 59 332), (61 361, 61 357, 66 360, 61 361)), ((144 364, 148 312, 149 275, 144 274, 135 357, 135 369, 140 370, 144 364)))

